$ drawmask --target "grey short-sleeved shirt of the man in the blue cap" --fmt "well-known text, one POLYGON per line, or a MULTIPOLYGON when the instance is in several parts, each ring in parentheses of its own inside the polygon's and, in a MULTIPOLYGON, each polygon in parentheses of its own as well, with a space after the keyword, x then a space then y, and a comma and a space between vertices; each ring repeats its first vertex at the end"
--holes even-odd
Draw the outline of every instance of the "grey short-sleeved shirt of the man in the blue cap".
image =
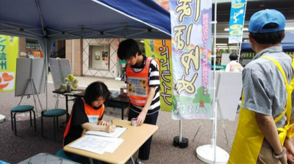
MULTIPOLYGON (((262 55, 273 57, 281 64, 288 83, 293 78, 292 59, 282 52, 280 46, 260 51, 242 71, 244 92, 242 107, 260 114, 272 115, 273 118, 276 118, 286 106, 287 91, 285 81, 274 62, 260 58, 262 55)), ((285 121, 286 115, 276 123, 277 128, 283 127, 285 121)))

